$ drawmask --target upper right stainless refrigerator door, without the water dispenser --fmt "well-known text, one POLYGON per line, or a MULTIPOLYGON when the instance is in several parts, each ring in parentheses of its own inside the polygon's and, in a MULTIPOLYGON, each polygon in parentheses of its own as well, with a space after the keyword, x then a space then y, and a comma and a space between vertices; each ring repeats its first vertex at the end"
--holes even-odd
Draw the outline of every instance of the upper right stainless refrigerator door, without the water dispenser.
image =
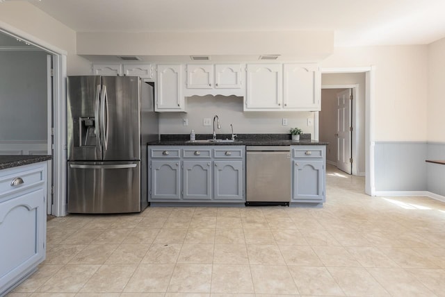
POLYGON ((140 160, 140 78, 103 76, 100 117, 103 160, 140 160))

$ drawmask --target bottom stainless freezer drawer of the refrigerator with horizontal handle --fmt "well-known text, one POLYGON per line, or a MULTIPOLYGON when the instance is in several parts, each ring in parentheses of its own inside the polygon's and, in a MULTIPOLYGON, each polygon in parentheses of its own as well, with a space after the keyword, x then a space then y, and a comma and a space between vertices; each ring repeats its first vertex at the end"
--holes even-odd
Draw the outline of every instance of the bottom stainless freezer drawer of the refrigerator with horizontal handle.
POLYGON ((140 161, 68 162, 68 212, 140 211, 140 161))

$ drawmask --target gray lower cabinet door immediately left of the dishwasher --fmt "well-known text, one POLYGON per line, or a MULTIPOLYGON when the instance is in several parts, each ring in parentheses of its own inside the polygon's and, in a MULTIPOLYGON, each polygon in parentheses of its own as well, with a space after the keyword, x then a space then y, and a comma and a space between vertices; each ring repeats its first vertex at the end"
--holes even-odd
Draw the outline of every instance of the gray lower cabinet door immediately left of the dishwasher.
POLYGON ((213 162, 213 199, 243 200, 243 162, 213 162))

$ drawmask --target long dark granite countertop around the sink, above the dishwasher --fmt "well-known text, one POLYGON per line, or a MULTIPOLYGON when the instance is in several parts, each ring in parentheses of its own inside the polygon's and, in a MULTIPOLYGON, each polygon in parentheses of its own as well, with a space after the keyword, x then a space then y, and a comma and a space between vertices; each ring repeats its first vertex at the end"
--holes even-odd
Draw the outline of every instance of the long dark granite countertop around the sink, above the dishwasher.
MULTIPOLYGON (((229 134, 219 134, 218 139, 230 139, 229 134)), ((310 134, 303 134, 300 140, 291 140, 289 134, 239 134, 235 142, 190 142, 188 134, 164 134, 160 141, 148 142, 148 145, 165 146, 290 146, 290 145, 327 145, 327 142, 320 142, 311 139, 310 134)), ((196 135, 197 140, 211 139, 211 134, 196 135)))

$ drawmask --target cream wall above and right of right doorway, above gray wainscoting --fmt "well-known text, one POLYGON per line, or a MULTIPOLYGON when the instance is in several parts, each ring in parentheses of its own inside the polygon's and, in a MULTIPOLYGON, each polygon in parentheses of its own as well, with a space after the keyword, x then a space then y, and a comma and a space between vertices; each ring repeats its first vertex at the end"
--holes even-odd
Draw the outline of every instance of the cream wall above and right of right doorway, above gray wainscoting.
POLYGON ((321 66, 373 66, 375 141, 426 141, 428 46, 335 48, 321 66))

